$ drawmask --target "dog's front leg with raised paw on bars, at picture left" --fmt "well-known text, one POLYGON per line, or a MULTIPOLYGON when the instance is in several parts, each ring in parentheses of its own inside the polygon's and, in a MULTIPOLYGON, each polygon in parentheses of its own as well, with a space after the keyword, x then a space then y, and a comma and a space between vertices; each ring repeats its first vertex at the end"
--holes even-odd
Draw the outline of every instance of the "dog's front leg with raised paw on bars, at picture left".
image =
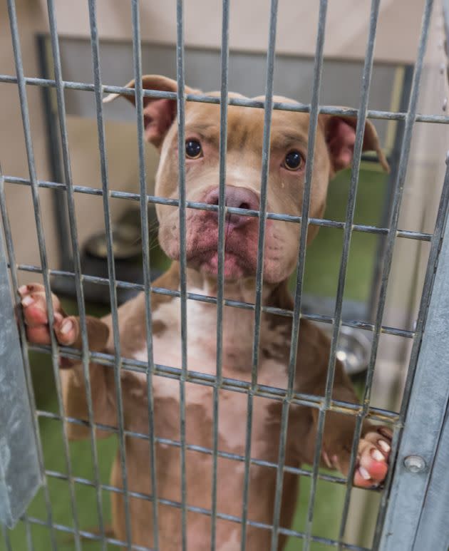
MULTIPOLYGON (((50 344, 48 312, 45 290, 41 284, 24 285, 19 289, 26 323, 26 336, 33 344, 50 344)), ((53 331, 62 346, 81 349, 81 331, 78 316, 67 316, 61 308, 58 297, 51 296, 54 324, 53 331)), ((108 341, 109 328, 100 319, 86 316, 88 345, 90 351, 104 351, 108 341)), ((86 381, 81 362, 61 358, 61 381, 63 403, 66 416, 88 421, 86 401, 86 381)), ((94 421, 115 426, 115 406, 113 393, 108 391, 108 374, 105 366, 90 364, 91 396, 94 421)), ((87 438, 89 428, 75 423, 67 423, 68 437, 71 440, 87 438)), ((108 431, 97 431, 98 437, 109 436, 108 431)))

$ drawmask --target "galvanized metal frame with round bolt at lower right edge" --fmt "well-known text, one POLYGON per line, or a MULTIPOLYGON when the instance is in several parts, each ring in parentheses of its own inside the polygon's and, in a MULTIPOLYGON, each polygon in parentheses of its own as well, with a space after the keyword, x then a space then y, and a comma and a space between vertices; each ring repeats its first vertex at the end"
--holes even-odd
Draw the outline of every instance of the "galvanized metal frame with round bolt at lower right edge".
MULTIPOLYGON (((447 549, 433 547, 425 543, 419 546, 424 534, 428 533, 428 525, 418 535, 420 516, 428 519, 429 515, 439 515, 437 510, 429 508, 435 502, 435 496, 428 490, 438 488, 443 495, 443 480, 447 475, 441 463, 444 460, 445 448, 440 448, 435 461, 438 443, 443 430, 443 421, 448 408, 449 396, 449 225, 446 225, 440 249, 438 267, 435 272, 433 292, 430 298, 428 318, 420 347, 413 390, 409 401, 405 421, 405 429, 398 450, 398 460, 394 473, 393 484, 386 510, 386 520, 381 536, 381 551, 447 549), (410 455, 418 455, 425 461, 425 468, 411 472, 404 461, 410 455), (437 478, 438 473, 443 478, 437 478), (432 480, 430 480, 432 476, 432 480), (438 487, 435 486, 438 480, 438 487), (423 507, 427 510, 423 512, 423 507)), ((445 428, 445 435, 448 429, 445 428)), ((447 438, 447 435, 445 436, 447 438)), ((443 443, 443 442, 442 442, 443 443)), ((445 463, 447 465, 447 462, 445 463)), ((443 495, 445 498, 447 494, 443 495)), ((446 498, 447 500, 447 498, 446 498)), ((442 505, 440 498, 439 505, 442 505)), ((447 512, 448 506, 445 505, 447 512)), ((447 515, 446 515, 447 519, 447 515)), ((427 521, 428 522, 428 521, 427 521)), ((447 520, 446 520, 447 522, 447 520)), ((435 530, 435 525, 433 527, 435 530)), ((438 534, 438 530, 435 530, 438 534)), ((443 538, 440 544, 443 543, 443 538)))

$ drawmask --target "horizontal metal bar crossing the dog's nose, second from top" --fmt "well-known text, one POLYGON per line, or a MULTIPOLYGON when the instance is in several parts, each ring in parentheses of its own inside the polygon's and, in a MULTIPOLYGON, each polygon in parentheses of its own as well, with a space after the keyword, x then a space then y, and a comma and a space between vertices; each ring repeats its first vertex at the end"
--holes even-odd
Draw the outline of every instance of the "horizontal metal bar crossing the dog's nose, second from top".
MULTIPOLYGON (((16 177, 16 176, 5 176, 4 181, 9 184, 16 185, 31 185, 31 182, 26 178, 16 177)), ((61 182, 48 182, 46 180, 38 180, 38 187, 44 187, 48 189, 58 189, 66 190, 66 184, 61 182)), ((88 187, 83 185, 74 185, 73 191, 76 193, 86 193, 88 195, 96 195, 97 197, 102 197, 103 190, 98 187, 88 187)), ((114 191, 110 190, 110 197, 114 199, 125 199, 132 201, 139 201, 139 193, 131 193, 126 191, 114 191)), ((166 197, 157 197, 155 195, 147 195, 147 201, 149 203, 155 203, 158 205, 170 205, 171 207, 178 207, 179 201, 177 199, 167 199, 166 197)), ((186 207, 188 209, 196 210, 210 210, 212 212, 218 212, 218 205, 208 205, 207 203, 187 201, 186 207)), ((258 210, 247 210, 239 209, 237 207, 226 207, 229 214, 236 214, 241 216, 249 216, 258 218, 258 210)), ((279 215, 275 212, 267 212, 267 218, 270 220, 279 220, 282 222, 293 222, 295 224, 300 224, 302 221, 301 216, 293 215, 279 215)), ((346 222, 340 222, 339 220, 327 220, 326 218, 309 218, 309 224, 322 227, 336 227, 341 230, 344 229, 346 222)), ((353 224, 352 231, 363 232, 363 233, 372 233, 376 235, 388 235, 388 228, 386 227, 376 227, 363 224, 353 224)), ((396 237, 405 237, 406 239, 413 239, 419 241, 430 241, 432 239, 432 234, 423 233, 423 232, 413 232, 411 230, 398 230, 396 232, 396 237)))

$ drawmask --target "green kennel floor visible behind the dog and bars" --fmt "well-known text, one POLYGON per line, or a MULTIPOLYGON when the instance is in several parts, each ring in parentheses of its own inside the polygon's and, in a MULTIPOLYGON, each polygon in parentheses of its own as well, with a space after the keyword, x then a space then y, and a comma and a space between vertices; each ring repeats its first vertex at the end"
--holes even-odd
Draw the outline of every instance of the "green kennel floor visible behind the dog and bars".
MULTIPOLYGON (((386 178, 372 165, 361 170, 358 201, 355 222, 377 225, 379 223, 382 208, 383 192, 386 178)), ((331 183, 329 190, 328 208, 326 217, 333 220, 344 220, 346 212, 346 200, 349 187, 349 172, 342 173, 331 183)), ((339 262, 342 247, 342 230, 321 228, 318 237, 306 254, 306 279, 304 292, 316 294, 320 297, 333 297, 336 293, 339 262)), ((374 254, 376 251, 376 237, 373 235, 354 232, 351 242, 351 254, 349 259, 348 275, 346 280, 345 299, 366 301, 371 284, 374 254)), ((67 311, 73 311, 73 301, 64 302, 67 311)), ((88 305, 89 314, 103 314, 101 308, 88 305)), ((33 379, 36 388, 36 401, 38 408, 46 411, 57 411, 56 394, 53 388, 51 364, 48 356, 43 354, 31 354, 33 367, 33 379)), ((358 383, 361 389, 361 383, 358 383)), ((61 423, 50 419, 41 418, 41 438, 45 455, 47 470, 64 473, 65 460, 63 456, 63 441, 61 437, 61 423)), ((115 438, 98 441, 98 458, 100 468, 100 481, 109 483, 110 465, 115 453, 115 438)), ((70 445, 73 475, 88 480, 93 480, 93 465, 91 461, 91 449, 89 441, 72 443, 70 445)), ((301 479, 301 497, 299 507, 294 519, 294 530, 304 530, 305 515, 309 499, 309 479, 301 479)), ((48 477, 48 486, 53 509, 53 522, 59 525, 73 525, 71 517, 70 494, 66 480, 58 480, 48 477)), ((78 525, 83 529, 92 529, 98 525, 96 510, 96 493, 91 487, 83 484, 74 484, 76 505, 78 510, 78 525)), ((338 537, 341 505, 344 498, 344 487, 319 481, 316 493, 316 505, 314 525, 312 533, 321 537, 338 537)), ((110 508, 107 493, 103 493, 103 510, 105 520, 110 518, 110 508)), ((40 491, 29 508, 29 515, 42 520, 46 518, 46 508, 43 493, 40 491)), ((9 532, 13 551, 51 550, 49 530, 47 527, 30 525, 32 547, 26 545, 26 525, 19 522, 15 530, 9 532)), ((63 551, 74 550, 71 536, 56 530, 58 548, 63 551)), ((100 549, 98 543, 83 541, 83 550, 96 551, 100 549)), ((110 551, 118 549, 108 546, 110 551)), ((301 540, 291 539, 287 545, 287 551, 301 551, 301 540)), ((330 550, 331 547, 312 543, 312 551, 330 550)), ((6 549, 4 540, 0 537, 0 550, 6 549)))

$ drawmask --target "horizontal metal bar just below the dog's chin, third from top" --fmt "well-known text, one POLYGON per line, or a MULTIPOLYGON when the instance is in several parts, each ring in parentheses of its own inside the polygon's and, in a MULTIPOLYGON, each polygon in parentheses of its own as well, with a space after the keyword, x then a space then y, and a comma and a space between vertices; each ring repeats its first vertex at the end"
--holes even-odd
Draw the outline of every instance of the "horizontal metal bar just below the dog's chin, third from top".
MULTIPOLYGON (((38 266, 33 266, 33 264, 17 264, 16 268, 23 272, 33 272, 35 274, 41 273, 41 268, 38 266)), ((73 272, 66 272, 60 269, 49 269, 48 274, 58 277, 75 277, 75 274, 73 272)), ((100 285, 109 285, 109 279, 105 277, 83 275, 83 281, 89 283, 97 283, 100 285)), ((139 291, 145 290, 144 285, 139 283, 123 282, 117 279, 115 280, 115 284, 117 287, 123 289, 138 289, 139 291)), ((155 294, 165 294, 167 297, 180 297, 179 291, 165 289, 163 287, 151 287, 151 292, 155 294)), ((217 304, 216 297, 208 297, 204 294, 187 293, 187 299, 197 300, 199 302, 206 302, 207 304, 217 304)), ((242 308, 244 310, 254 310, 254 304, 252 304, 251 302, 239 302, 237 300, 225 299, 224 306, 232 308, 242 308)), ((291 310, 276 307, 262 306, 262 311, 266 312, 267 314, 275 314, 277 316, 284 317, 291 317, 293 315, 293 312, 291 310)), ((306 314, 303 312, 301 313, 301 318, 308 319, 309 321, 315 321, 317 323, 334 323, 334 319, 331 316, 324 316, 322 314, 306 314)), ((341 324, 346 327, 363 329, 364 331, 373 331, 374 328, 373 324, 369 324, 367 321, 343 320, 341 321, 341 324)), ((406 339, 413 339, 413 336, 415 334, 414 331, 409 331, 408 329, 399 329, 398 327, 391 327, 387 325, 382 326, 381 332, 386 335, 403 336, 406 337, 406 339)))

